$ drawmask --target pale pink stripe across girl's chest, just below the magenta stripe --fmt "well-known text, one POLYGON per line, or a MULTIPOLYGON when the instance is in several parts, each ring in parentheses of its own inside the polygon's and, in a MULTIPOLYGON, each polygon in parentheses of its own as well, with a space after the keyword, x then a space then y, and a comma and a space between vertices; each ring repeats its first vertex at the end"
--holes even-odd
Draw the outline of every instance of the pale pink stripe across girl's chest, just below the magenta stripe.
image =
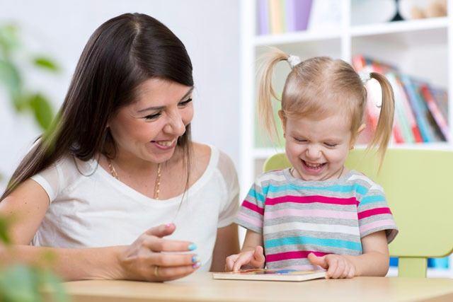
POLYGON ((281 209, 278 211, 266 211, 264 216, 266 219, 274 219, 287 216, 357 219, 357 212, 318 209, 281 209))

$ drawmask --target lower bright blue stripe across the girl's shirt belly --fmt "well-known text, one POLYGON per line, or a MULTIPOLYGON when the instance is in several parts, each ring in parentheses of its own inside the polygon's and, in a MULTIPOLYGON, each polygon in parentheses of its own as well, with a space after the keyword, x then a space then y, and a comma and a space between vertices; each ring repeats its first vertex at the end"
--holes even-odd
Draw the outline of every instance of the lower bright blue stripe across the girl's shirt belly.
POLYGON ((331 248, 348 248, 349 250, 358 250, 362 251, 362 243, 357 243, 353 241, 340 240, 340 239, 323 239, 323 238, 314 238, 314 237, 285 237, 278 239, 265 240, 265 248, 277 248, 281 245, 321 245, 328 246, 331 248))

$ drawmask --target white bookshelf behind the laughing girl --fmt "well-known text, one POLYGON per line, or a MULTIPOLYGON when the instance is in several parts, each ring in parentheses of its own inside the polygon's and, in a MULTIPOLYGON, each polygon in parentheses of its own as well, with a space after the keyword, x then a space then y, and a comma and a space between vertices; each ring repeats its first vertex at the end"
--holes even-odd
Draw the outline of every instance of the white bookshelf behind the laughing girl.
MULTIPOLYGON (((256 35, 256 0, 241 1, 241 195, 248 191, 265 158, 283 151, 282 147, 255 144, 256 59, 268 46, 297 54, 302 59, 323 55, 351 62, 355 54, 366 54, 394 64, 405 74, 446 88, 449 121, 453 121, 453 0, 448 0, 447 17, 366 25, 351 24, 351 1, 338 1, 342 1, 338 28, 278 35, 256 35)), ((273 82, 276 91, 282 91, 288 73, 289 66, 277 65, 273 82)), ((394 144, 391 148, 453 149, 453 136, 450 129, 445 143, 394 144)), ((428 276, 453 277, 453 269, 430 269, 428 276)))

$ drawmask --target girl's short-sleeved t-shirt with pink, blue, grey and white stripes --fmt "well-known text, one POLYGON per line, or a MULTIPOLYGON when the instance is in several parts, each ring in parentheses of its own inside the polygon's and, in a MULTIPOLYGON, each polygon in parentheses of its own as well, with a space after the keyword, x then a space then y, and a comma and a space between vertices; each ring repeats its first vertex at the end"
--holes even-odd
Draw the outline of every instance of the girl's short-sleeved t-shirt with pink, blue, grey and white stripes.
POLYGON ((304 181, 289 171, 260 175, 243 201, 236 223, 263 234, 270 269, 316 269, 307 256, 362 255, 361 238, 398 228, 381 186, 350 170, 338 180, 304 181))

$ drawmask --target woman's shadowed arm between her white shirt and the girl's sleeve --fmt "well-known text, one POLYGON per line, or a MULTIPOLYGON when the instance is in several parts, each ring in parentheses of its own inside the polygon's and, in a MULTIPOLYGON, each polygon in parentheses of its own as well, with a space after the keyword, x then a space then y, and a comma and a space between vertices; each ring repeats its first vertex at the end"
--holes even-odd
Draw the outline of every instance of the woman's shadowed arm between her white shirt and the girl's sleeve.
POLYGON ((237 224, 231 223, 224 228, 218 228, 210 271, 223 272, 225 269, 225 258, 238 252, 239 236, 237 224))

